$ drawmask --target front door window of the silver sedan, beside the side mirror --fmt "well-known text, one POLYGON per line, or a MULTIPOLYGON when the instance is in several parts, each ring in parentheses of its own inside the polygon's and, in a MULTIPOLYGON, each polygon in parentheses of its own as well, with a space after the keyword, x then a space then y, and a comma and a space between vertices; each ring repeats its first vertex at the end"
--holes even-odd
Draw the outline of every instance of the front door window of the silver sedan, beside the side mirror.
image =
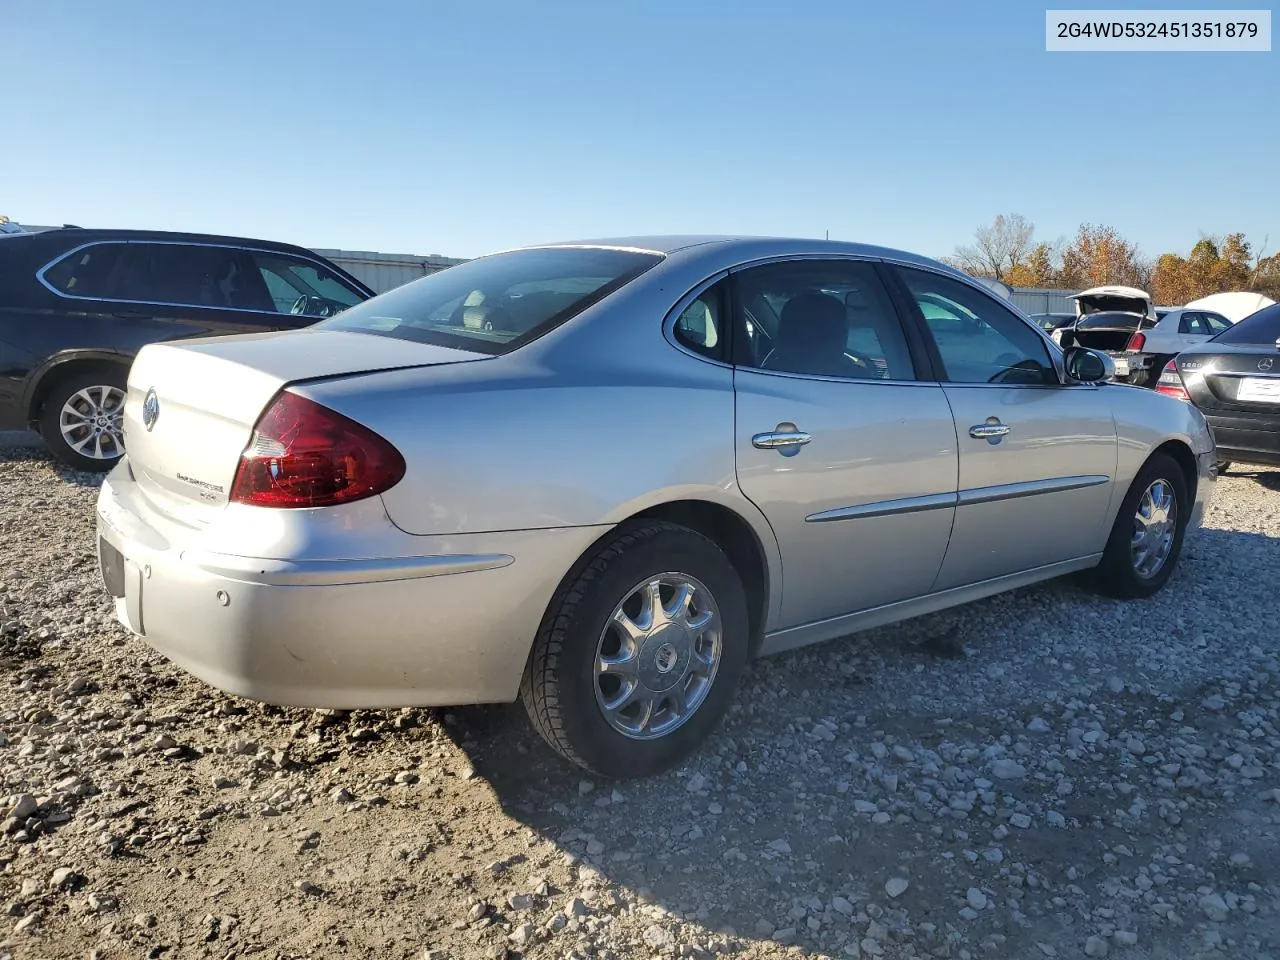
POLYGON ((1056 384, 1044 339, 1007 307, 966 283, 896 268, 951 383, 1056 384))

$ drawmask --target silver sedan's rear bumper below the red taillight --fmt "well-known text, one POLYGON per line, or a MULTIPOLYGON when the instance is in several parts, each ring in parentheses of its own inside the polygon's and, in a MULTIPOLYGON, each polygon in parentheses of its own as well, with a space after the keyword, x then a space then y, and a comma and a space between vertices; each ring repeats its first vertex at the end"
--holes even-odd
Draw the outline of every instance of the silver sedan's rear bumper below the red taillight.
MULTIPOLYGON (((307 522, 279 513, 308 511, 264 522, 307 522)), ((364 559, 211 553, 205 531, 147 507, 127 463, 102 484, 97 531, 118 618, 175 664, 253 700, 343 709, 513 700, 552 593, 602 532, 411 536, 385 521, 385 549, 364 559)))

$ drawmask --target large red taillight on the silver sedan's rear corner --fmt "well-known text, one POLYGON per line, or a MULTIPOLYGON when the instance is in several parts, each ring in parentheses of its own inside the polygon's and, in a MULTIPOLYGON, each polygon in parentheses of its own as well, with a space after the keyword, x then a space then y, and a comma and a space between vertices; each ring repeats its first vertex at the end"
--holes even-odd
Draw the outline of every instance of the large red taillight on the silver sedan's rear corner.
POLYGON ((403 476, 404 458, 372 430, 306 397, 280 393, 241 454, 230 500, 332 507, 375 497, 403 476))

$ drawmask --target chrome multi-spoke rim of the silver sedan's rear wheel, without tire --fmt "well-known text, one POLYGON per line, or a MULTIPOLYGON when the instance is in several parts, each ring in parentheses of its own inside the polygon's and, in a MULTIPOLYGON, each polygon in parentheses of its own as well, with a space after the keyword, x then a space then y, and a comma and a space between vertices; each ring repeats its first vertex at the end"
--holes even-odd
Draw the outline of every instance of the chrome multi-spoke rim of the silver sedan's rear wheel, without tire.
POLYGON ((710 590, 687 573, 659 573, 631 588, 602 631, 595 701, 623 736, 657 740, 703 705, 723 649, 710 590))

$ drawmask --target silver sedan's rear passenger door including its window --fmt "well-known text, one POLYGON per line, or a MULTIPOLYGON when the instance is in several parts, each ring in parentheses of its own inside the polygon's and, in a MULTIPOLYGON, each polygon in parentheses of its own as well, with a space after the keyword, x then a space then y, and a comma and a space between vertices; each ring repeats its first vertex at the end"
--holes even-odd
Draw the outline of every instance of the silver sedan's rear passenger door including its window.
POLYGON ((737 479, 782 554, 774 628, 928 593, 956 435, 877 265, 788 260, 731 280, 737 479))

